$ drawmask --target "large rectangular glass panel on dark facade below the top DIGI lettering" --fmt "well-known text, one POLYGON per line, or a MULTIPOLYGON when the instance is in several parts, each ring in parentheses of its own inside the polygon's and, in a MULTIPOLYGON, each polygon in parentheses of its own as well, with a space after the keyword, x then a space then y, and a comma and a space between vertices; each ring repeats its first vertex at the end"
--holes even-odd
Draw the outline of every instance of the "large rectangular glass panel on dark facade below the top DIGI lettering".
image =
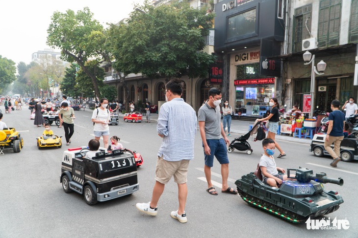
POLYGON ((256 8, 228 18, 227 39, 237 41, 256 36, 256 8))

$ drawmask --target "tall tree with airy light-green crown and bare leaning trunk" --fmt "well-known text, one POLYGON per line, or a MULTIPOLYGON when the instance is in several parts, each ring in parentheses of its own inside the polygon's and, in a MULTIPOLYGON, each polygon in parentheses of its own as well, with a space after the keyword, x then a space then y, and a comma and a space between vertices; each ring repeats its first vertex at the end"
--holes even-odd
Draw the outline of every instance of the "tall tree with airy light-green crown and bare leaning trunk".
POLYGON ((58 47, 62 50, 61 57, 67 62, 76 61, 82 71, 92 79, 95 94, 100 95, 96 74, 85 66, 90 58, 96 58, 97 64, 100 63, 102 55, 99 54, 96 41, 93 35, 102 32, 103 26, 93 19, 93 13, 88 7, 77 11, 72 10, 66 13, 54 12, 51 17, 51 24, 47 30, 47 44, 58 47))

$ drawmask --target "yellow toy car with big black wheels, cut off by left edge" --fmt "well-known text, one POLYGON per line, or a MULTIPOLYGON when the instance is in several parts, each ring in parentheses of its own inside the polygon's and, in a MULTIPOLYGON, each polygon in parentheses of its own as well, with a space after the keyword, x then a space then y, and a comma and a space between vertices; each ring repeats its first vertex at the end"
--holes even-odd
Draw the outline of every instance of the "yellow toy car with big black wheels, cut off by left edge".
POLYGON ((0 130, 0 155, 4 155, 3 149, 12 148, 15 153, 24 147, 24 140, 15 128, 0 130))

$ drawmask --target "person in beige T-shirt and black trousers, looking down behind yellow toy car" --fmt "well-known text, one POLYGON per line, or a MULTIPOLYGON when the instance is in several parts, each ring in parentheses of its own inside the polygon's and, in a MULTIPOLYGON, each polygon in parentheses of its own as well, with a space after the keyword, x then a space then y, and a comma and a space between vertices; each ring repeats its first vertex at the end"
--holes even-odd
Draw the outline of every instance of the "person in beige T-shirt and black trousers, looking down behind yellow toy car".
POLYGON ((60 119, 60 126, 58 127, 61 128, 63 126, 63 129, 65 130, 66 146, 68 146, 70 145, 71 137, 75 132, 74 119, 76 119, 76 117, 74 108, 70 108, 66 102, 61 103, 58 118, 60 119))

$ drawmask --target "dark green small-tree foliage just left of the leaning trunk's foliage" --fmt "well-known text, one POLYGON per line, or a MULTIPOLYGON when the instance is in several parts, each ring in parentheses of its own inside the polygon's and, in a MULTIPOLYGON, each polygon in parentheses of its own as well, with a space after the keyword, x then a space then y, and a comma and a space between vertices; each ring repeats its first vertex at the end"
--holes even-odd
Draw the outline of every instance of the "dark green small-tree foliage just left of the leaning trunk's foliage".
POLYGON ((60 89, 63 94, 66 94, 69 97, 77 97, 80 95, 78 88, 76 87, 76 72, 78 67, 77 64, 73 63, 71 64, 71 67, 66 68, 65 76, 60 84, 60 89))

